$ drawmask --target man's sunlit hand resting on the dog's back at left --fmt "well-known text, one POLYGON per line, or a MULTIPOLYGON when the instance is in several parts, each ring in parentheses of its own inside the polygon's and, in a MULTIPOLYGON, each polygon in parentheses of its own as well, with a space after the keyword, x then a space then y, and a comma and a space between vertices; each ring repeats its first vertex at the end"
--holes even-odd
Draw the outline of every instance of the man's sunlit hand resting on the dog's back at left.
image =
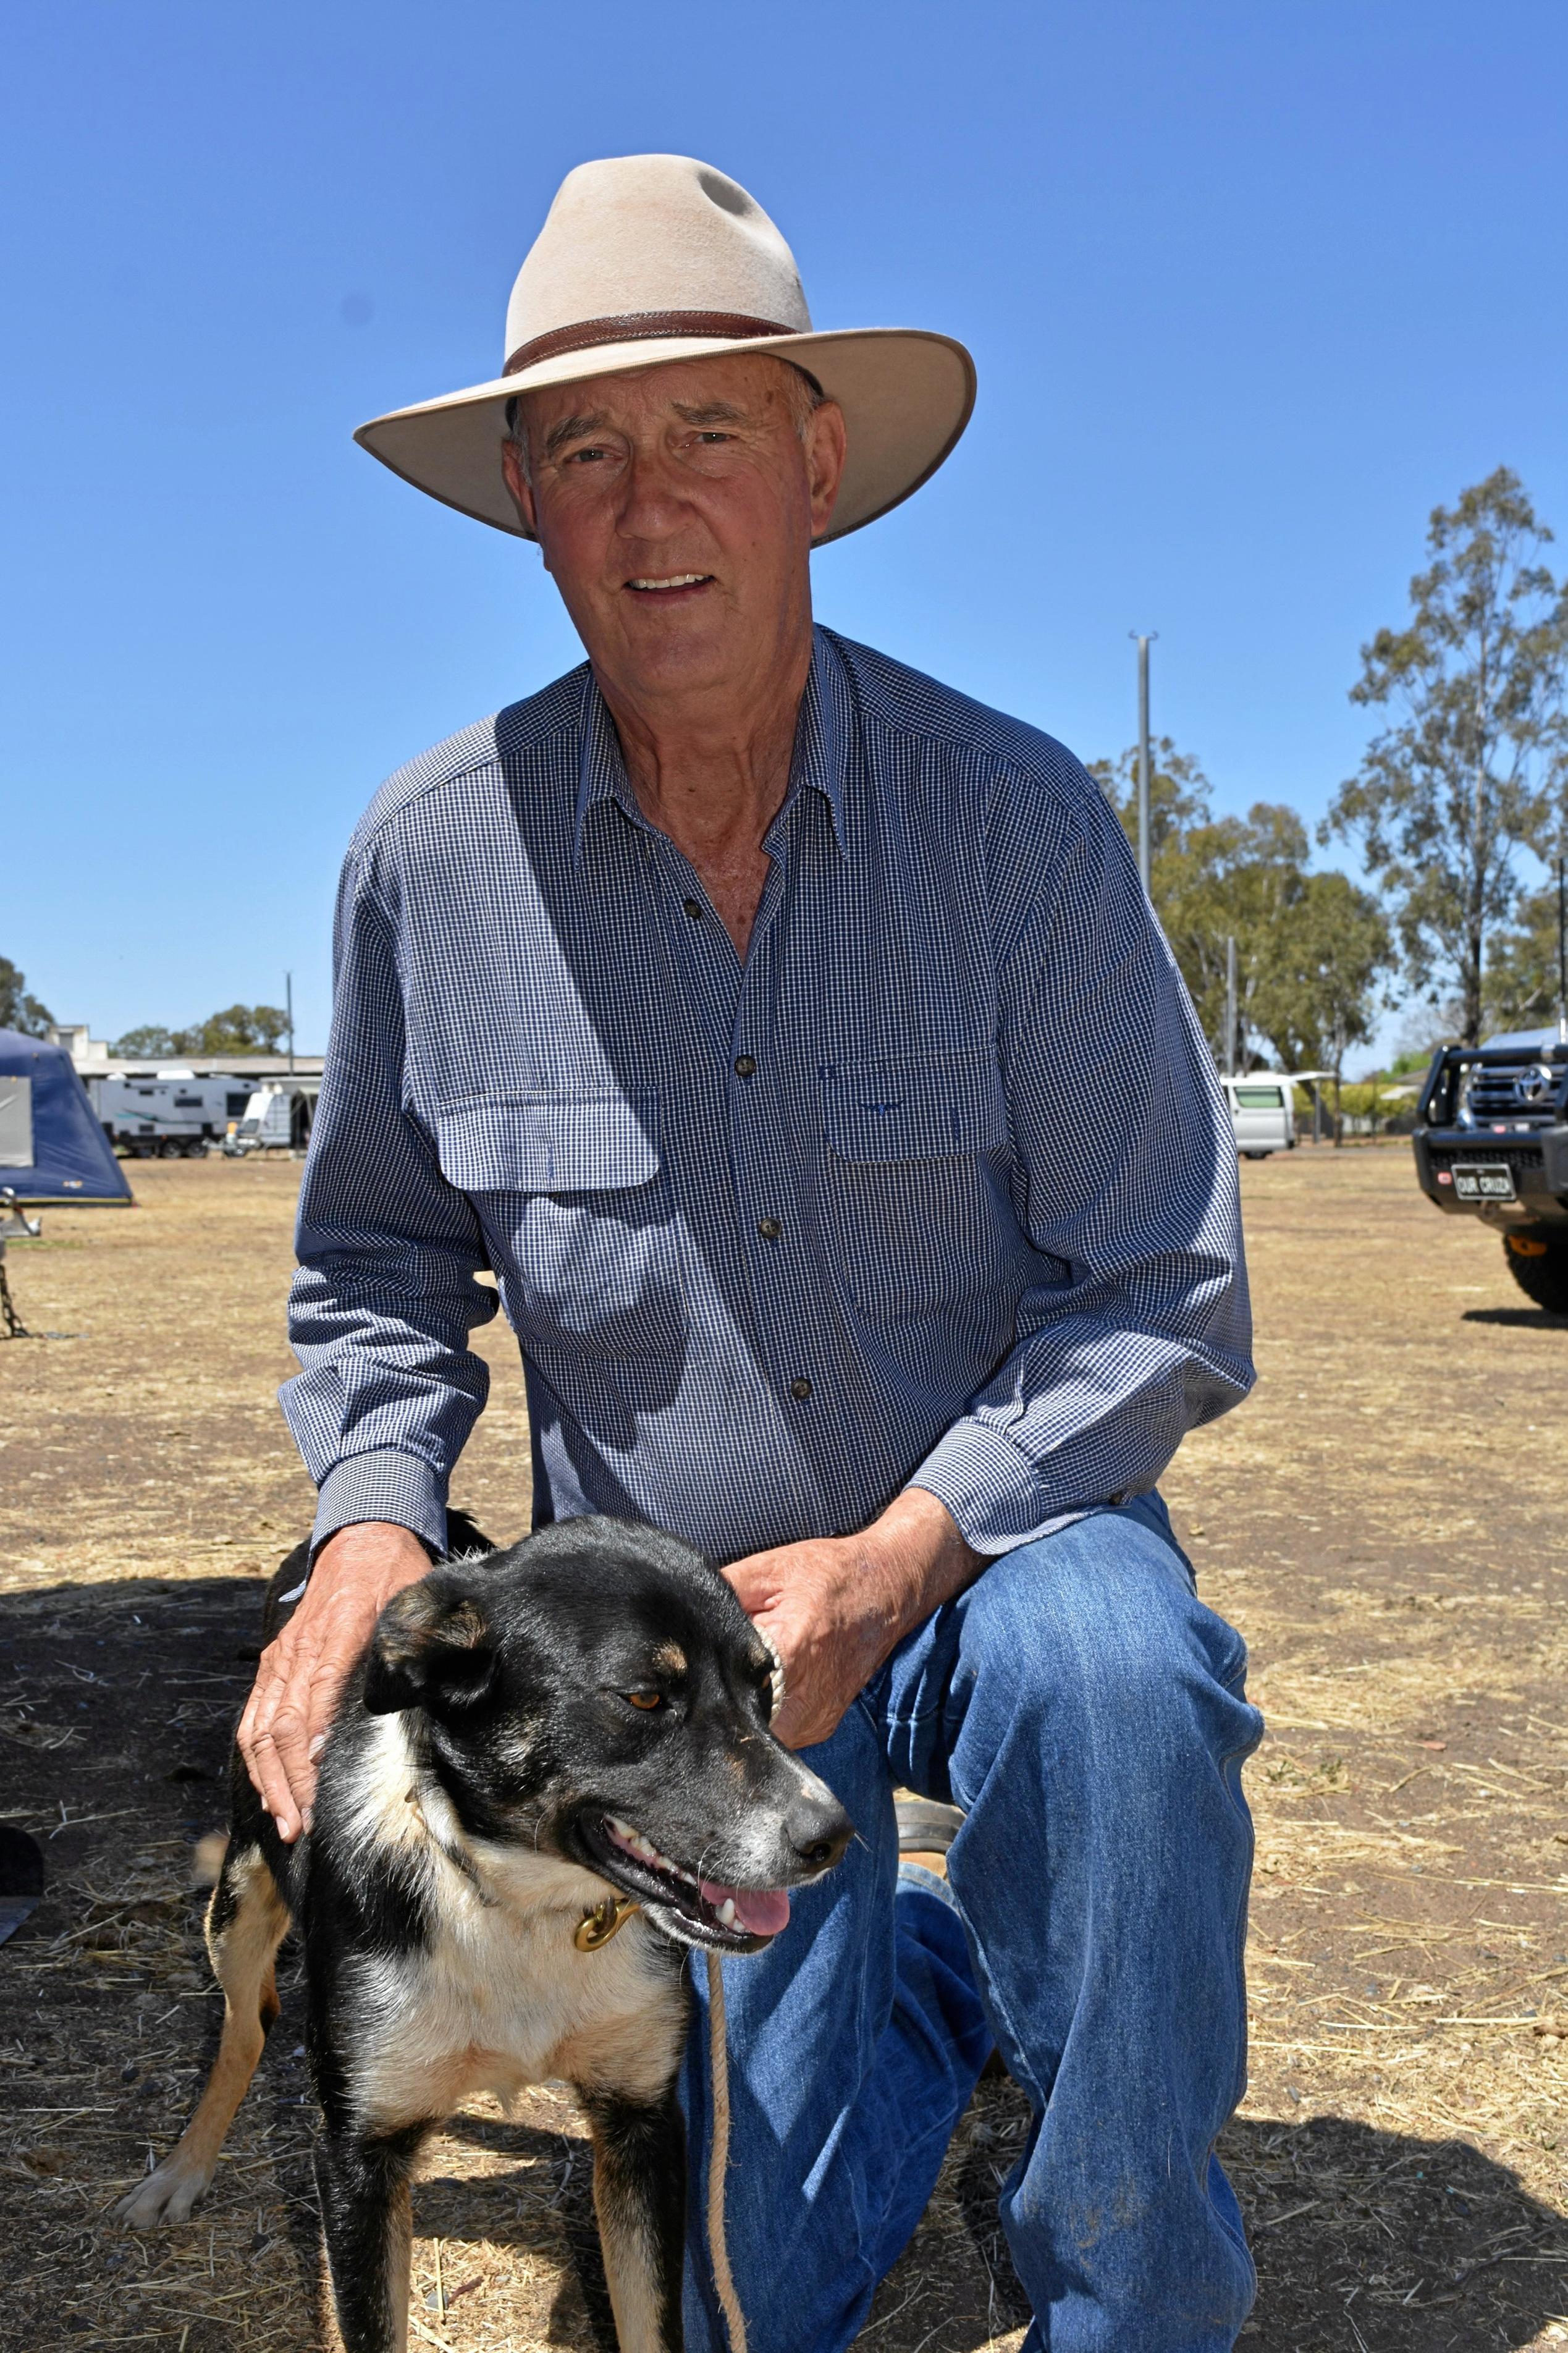
POLYGON ((431 1555, 407 1527, 391 1520, 339 1527, 315 1555, 304 1600, 261 1652, 240 1718, 240 1755, 285 1845, 311 1828, 315 1758, 348 1668, 393 1593, 428 1567, 431 1555))

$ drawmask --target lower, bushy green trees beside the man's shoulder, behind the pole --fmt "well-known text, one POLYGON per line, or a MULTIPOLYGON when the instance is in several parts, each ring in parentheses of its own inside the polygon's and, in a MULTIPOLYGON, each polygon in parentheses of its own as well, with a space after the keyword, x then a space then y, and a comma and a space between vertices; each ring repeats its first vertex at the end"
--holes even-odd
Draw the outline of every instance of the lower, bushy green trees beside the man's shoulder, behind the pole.
MULTIPOLYGON (((1340 873, 1307 873, 1307 826, 1283 802, 1212 816, 1208 776, 1170 736, 1151 751, 1149 892, 1198 1019, 1224 1064, 1224 941, 1236 941, 1236 1066, 1269 1047, 1285 1068, 1340 1068, 1370 1035, 1391 962, 1375 901, 1340 873)), ((1092 772, 1137 838, 1137 755, 1092 772)))

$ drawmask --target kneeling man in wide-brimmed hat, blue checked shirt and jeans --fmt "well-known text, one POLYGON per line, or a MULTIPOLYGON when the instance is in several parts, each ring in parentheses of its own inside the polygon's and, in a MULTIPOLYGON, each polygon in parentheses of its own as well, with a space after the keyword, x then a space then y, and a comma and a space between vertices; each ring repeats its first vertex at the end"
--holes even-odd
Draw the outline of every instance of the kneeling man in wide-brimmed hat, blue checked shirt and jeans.
MULTIPOLYGON (((1260 1734, 1156 1478, 1250 1384, 1236 1153, 1078 762, 812 626, 810 551, 968 419, 944 336, 819 334, 772 221, 584 165, 492 384, 360 435, 537 539, 589 661, 353 838, 299 1214, 308 1593, 242 1741, 285 1838, 377 1612, 443 1546, 494 1268, 534 1520, 725 1565, 859 1842, 725 1969, 753 2353, 838 2353, 994 2047, 1052 2353, 1212 2353, 1253 2297, 1260 1734), (961 1809, 899 1868, 892 1791, 961 1809)), ((685 2073, 704 2207, 704 2035, 685 2073)), ((723 2346, 692 2226, 687 2339, 723 2346)))

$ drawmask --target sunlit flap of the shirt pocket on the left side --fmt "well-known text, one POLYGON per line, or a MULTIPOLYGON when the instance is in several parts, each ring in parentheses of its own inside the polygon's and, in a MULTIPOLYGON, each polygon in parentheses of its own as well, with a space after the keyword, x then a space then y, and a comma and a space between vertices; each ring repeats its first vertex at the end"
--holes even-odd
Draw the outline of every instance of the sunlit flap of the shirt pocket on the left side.
POLYGON ((659 1174, 655 1094, 516 1094, 436 1113, 459 1193, 622 1193, 659 1174))

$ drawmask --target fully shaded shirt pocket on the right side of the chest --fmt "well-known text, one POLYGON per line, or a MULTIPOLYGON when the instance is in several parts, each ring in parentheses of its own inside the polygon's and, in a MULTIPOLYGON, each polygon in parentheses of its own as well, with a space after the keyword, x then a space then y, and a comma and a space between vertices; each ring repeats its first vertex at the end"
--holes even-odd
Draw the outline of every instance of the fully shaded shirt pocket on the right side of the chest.
POLYGON ((989 1049, 822 1068, 822 1209, 841 1297, 871 1327, 963 1313, 979 1348, 1017 1297, 1008 1111, 989 1049))

